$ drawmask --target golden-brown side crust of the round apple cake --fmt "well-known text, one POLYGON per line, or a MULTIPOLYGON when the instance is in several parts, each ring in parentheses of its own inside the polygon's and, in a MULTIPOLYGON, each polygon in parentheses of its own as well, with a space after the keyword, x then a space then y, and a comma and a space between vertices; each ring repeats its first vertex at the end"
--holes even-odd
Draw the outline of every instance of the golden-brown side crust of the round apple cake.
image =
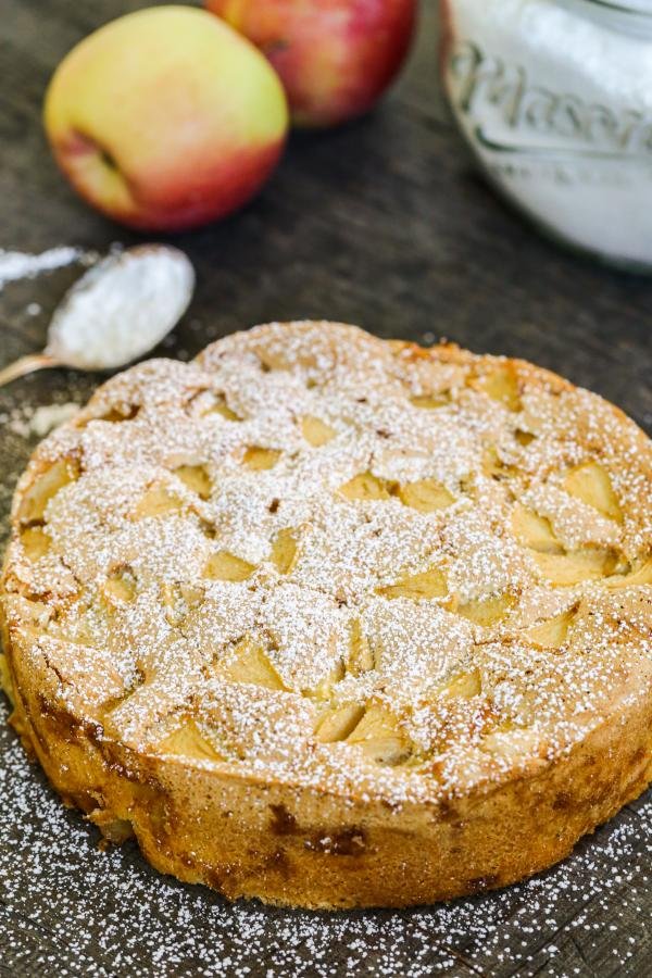
POLYGON ((55 702, 21 694, 13 722, 65 802, 111 841, 135 835, 160 872, 231 900, 339 910, 480 893, 568 855, 652 780, 640 690, 563 758, 493 790, 394 806, 146 756, 55 702))

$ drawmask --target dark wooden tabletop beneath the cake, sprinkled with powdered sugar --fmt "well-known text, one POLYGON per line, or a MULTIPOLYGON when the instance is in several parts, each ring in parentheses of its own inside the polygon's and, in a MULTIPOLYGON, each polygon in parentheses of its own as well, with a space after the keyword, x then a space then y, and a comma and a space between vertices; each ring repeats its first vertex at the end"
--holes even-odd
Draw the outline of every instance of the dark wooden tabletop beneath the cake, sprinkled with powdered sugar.
MULTIPOLYGON (((104 250, 137 240, 68 189, 50 159, 40 106, 51 72, 77 40, 145 5, 0 0, 0 248, 104 250)), ((296 135, 255 203, 173 240, 195 262, 198 288, 164 348, 170 355, 193 355, 258 322, 342 319, 381 336, 447 336, 534 360, 652 426, 652 283, 560 251, 475 175, 438 83, 435 2, 425 4, 413 57, 377 111, 337 131, 296 135)), ((77 274, 65 268, 5 287, 1 362, 42 347, 49 313, 77 274), (27 312, 34 302, 37 315, 27 312)), ((80 400, 95 383, 66 372, 26 378, 0 391, 0 419, 80 400)), ((14 428, 0 430, 3 532, 33 447, 14 428)), ((156 877, 134 848, 99 853, 95 831, 61 808, 3 730, 0 974, 652 975, 651 823, 648 795, 546 877, 444 908, 333 917, 231 908, 156 877)))

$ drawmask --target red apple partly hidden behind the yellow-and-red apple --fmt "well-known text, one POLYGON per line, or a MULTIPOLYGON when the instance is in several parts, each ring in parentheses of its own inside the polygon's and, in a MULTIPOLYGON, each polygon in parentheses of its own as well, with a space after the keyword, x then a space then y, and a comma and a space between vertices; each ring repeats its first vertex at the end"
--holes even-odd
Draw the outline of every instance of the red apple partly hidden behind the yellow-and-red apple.
POLYGON ((205 0, 267 55, 304 126, 366 112, 399 71, 416 0, 205 0))

